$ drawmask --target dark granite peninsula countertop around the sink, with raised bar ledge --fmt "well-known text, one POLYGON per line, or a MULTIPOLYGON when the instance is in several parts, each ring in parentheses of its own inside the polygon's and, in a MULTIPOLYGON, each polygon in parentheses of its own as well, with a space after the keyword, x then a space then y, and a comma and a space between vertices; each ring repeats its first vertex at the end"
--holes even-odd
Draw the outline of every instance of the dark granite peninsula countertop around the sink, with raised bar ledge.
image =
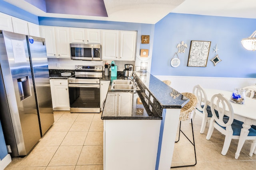
MULTIPOLYGON (((126 78, 119 77, 116 79, 126 78)), ((182 94, 164 84, 150 73, 140 74, 140 72, 136 72, 136 82, 140 88, 137 91, 111 90, 109 87, 102 119, 162 119, 162 109, 182 108, 189 101, 187 98, 183 98, 182 94), (114 108, 115 102, 113 102, 112 96, 114 93, 133 94, 133 106, 130 115, 122 116, 118 113, 113 115, 112 108, 114 108), (176 94, 176 96, 171 96, 171 94, 176 94)))

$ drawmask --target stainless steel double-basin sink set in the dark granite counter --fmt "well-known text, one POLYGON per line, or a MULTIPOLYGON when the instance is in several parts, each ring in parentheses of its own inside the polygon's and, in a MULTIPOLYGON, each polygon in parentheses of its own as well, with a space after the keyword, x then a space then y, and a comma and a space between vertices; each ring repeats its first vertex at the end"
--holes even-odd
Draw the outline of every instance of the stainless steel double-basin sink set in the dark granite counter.
POLYGON ((140 90, 132 80, 112 80, 111 90, 140 90))

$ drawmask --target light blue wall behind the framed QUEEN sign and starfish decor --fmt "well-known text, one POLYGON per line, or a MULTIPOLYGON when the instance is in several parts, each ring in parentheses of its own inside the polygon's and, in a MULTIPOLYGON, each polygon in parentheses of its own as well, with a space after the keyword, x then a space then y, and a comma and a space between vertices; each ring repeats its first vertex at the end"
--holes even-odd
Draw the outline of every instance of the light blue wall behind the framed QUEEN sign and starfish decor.
POLYGON ((256 29, 256 19, 170 13, 155 24, 151 74, 169 76, 209 76, 256 78, 256 51, 247 51, 241 39, 256 29), (206 67, 188 67, 190 41, 211 41, 206 67), (185 53, 178 53, 180 66, 170 66, 176 46, 184 41, 185 53), (222 60, 214 66, 217 54, 222 60))

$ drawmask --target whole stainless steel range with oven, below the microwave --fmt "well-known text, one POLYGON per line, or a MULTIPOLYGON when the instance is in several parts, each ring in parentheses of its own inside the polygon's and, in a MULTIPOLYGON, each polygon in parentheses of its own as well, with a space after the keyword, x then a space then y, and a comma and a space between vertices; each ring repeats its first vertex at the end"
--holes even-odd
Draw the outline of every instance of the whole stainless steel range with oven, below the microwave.
POLYGON ((75 66, 75 77, 68 78, 71 113, 100 113, 102 66, 75 66))

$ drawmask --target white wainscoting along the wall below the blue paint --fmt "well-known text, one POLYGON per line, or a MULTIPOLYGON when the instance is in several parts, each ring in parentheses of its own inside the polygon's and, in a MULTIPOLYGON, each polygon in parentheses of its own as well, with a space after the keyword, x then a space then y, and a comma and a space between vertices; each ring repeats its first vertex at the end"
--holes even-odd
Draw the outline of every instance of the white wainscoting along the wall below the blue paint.
POLYGON ((155 76, 159 80, 170 80, 170 86, 178 92, 192 92, 193 87, 200 84, 202 88, 214 88, 233 91, 256 84, 256 78, 226 78, 226 77, 192 77, 192 76, 155 76))

